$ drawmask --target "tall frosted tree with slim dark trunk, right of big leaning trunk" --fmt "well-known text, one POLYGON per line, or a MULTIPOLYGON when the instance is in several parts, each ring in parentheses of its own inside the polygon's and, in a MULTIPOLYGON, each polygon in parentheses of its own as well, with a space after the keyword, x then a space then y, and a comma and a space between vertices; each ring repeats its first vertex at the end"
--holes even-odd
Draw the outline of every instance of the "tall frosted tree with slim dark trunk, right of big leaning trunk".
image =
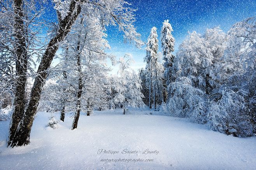
MULTIPOLYGON (((92 17, 81 17, 75 25, 75 30, 77 31, 74 32, 74 35, 76 35, 77 39, 72 37, 68 39, 68 41, 74 43, 74 48, 70 49, 70 53, 75 56, 75 69, 72 76, 74 79, 70 83, 76 83, 73 87, 76 92, 75 98, 77 100, 72 129, 77 128, 80 111, 82 109, 82 99, 87 100, 87 109, 91 110, 90 103, 93 99, 92 92, 96 92, 93 91, 95 90, 93 80, 96 81, 96 77, 98 76, 104 78, 102 72, 107 70, 102 64, 104 64, 104 60, 107 58, 104 49, 109 47, 109 45, 104 39, 106 34, 103 33, 102 27, 100 24, 97 24, 98 22, 97 19, 92 17), (89 95, 84 95, 89 92, 89 95)), ((97 81, 97 83, 98 85, 100 84, 99 81, 97 81)), ((100 91, 98 91, 98 93, 100 93, 100 91)))

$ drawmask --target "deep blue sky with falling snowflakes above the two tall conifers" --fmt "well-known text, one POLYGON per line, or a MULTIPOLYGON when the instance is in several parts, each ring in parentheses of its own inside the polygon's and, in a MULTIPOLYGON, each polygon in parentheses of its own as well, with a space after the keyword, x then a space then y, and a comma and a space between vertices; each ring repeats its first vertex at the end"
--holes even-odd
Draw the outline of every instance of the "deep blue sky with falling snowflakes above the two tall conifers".
MULTIPOLYGON (((135 12, 137 21, 135 26, 146 42, 150 29, 155 26, 160 38, 161 26, 168 19, 174 31, 175 52, 181 42, 188 35, 188 31, 203 34, 206 28, 220 26, 224 32, 238 21, 256 16, 256 0, 128 0, 135 12)), ((107 34, 112 53, 123 57, 126 53, 132 54, 135 63, 134 70, 145 66, 143 62, 145 50, 139 50, 134 45, 123 43, 123 34, 118 28, 107 27, 107 34)), ((160 44, 159 44, 160 45, 160 44)), ((142 47, 143 49, 145 46, 142 47)), ((161 51, 161 47, 159 49, 161 51)), ((117 72, 113 67, 112 73, 117 72)))

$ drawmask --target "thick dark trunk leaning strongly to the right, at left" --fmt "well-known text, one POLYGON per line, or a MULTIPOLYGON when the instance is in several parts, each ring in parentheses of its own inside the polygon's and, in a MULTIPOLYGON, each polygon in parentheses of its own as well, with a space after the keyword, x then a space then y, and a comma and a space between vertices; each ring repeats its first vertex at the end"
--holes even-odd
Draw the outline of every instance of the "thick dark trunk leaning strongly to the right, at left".
POLYGON ((81 12, 81 7, 78 5, 78 3, 79 1, 71 1, 69 12, 65 18, 60 21, 60 29, 58 29, 56 36, 51 39, 47 45, 46 51, 44 52, 42 60, 39 64, 39 68, 37 70, 37 77, 35 78, 35 82, 33 84, 30 101, 28 103, 26 112, 20 121, 19 128, 17 128, 16 133, 12 138, 9 138, 8 144, 12 147, 23 146, 30 143, 30 131, 32 128, 33 120, 35 118, 35 114, 37 113, 37 106, 39 104, 40 95, 47 77, 47 70, 51 65, 56 51, 58 50, 59 42, 63 41, 65 36, 70 31, 71 26, 77 19, 77 16, 81 12))

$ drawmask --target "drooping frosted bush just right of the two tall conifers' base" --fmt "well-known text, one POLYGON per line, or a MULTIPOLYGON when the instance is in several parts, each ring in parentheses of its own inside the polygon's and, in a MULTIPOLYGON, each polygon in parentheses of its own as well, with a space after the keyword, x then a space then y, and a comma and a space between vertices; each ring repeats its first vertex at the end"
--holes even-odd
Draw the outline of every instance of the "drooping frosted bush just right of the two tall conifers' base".
POLYGON ((202 90, 192 86, 188 77, 179 77, 169 86, 171 96, 167 108, 171 115, 188 117, 193 122, 206 123, 205 96, 202 90))

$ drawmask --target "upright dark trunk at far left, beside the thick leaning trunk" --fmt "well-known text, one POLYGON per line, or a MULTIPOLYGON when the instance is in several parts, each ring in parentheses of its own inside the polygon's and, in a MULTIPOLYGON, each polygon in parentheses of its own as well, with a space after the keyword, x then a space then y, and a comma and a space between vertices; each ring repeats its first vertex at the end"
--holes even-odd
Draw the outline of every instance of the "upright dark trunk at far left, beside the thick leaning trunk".
POLYGON ((26 40, 25 31, 23 23, 23 2, 22 0, 14 0, 14 13, 15 13, 15 54, 16 54, 16 91, 14 98, 14 112, 12 114, 12 121, 10 124, 9 142, 8 146, 11 144, 11 140, 17 130, 19 122, 21 121, 25 112, 25 87, 26 87, 26 72, 27 72, 27 50, 26 50, 26 40))

